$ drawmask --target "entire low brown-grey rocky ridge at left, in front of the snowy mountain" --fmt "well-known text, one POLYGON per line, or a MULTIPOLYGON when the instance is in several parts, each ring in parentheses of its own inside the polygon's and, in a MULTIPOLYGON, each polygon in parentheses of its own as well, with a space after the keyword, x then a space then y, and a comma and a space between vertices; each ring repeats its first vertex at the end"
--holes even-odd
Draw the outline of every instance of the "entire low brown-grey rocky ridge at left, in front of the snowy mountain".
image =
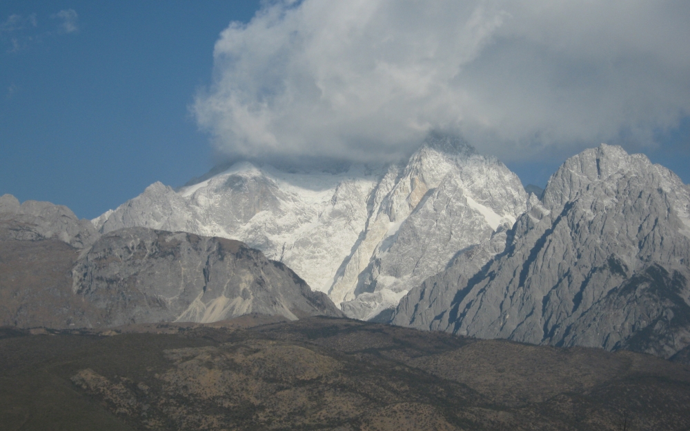
POLYGON ((65 207, 19 206, 9 195, 0 210, 0 325, 342 315, 326 294, 239 241, 148 228, 99 235, 65 207))

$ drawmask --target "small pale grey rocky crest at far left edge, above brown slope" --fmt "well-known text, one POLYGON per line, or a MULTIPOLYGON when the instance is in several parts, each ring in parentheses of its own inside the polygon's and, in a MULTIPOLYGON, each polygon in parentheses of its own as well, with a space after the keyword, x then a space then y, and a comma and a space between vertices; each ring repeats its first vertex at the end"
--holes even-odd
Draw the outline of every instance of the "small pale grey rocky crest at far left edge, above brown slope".
POLYGON ((66 206, 50 202, 26 201, 19 205, 11 194, 0 197, 2 238, 17 240, 59 239, 73 247, 84 248, 98 237, 92 223, 79 220, 66 206), (11 225, 11 226, 10 226, 11 225))

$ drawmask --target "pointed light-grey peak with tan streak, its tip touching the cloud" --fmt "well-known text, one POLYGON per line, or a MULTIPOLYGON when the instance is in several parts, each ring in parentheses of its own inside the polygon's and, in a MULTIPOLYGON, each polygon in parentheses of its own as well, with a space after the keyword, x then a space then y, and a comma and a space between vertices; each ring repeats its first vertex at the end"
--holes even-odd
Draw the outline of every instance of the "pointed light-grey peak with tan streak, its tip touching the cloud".
POLYGON ((459 139, 432 135, 413 155, 364 232, 330 296, 357 319, 373 319, 448 265, 459 250, 486 241, 525 208, 520 179, 459 139), (355 275, 356 274, 356 275, 355 275))

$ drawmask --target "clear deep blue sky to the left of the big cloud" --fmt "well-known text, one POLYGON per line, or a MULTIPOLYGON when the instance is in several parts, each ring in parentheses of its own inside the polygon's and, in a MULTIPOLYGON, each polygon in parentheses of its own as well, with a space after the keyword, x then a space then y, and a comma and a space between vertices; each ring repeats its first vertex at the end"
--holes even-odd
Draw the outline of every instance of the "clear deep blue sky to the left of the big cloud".
POLYGON ((213 163, 188 112, 213 44, 258 1, 0 2, 0 194, 97 217, 150 183, 181 186, 213 163), (77 14, 61 29, 61 10, 77 14), (34 17, 36 26, 33 26, 34 17), (14 50, 12 39, 19 48, 14 50))

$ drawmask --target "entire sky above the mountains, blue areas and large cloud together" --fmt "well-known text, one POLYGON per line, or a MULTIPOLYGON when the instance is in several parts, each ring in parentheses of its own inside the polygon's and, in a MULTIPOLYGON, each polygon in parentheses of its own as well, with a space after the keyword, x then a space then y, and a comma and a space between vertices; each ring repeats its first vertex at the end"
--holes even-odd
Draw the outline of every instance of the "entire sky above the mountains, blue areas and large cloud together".
POLYGON ((4 0, 0 194, 93 218, 218 157, 397 157, 428 128, 524 184, 601 141, 690 182, 682 2, 288 3, 4 0))

